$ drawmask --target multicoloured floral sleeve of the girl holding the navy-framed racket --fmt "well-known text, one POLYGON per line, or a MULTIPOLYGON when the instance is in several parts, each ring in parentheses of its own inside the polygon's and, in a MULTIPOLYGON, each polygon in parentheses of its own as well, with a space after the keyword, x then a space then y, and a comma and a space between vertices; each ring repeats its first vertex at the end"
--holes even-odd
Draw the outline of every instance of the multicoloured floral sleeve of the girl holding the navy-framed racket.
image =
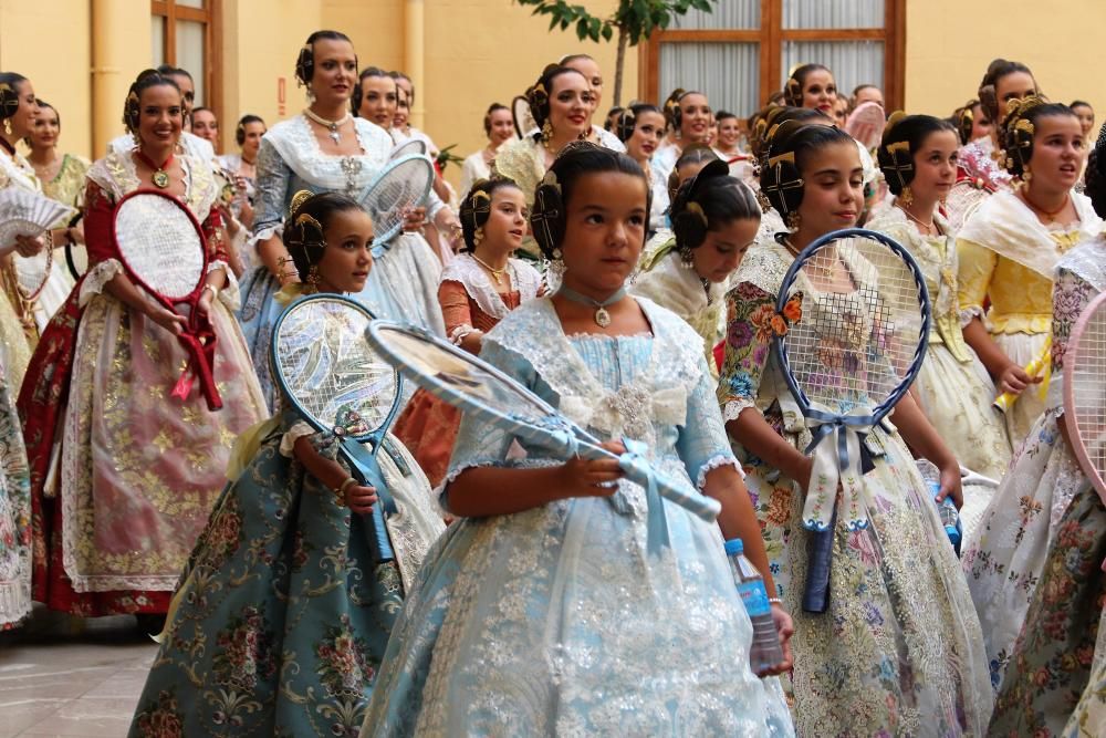
POLYGON ((775 297, 751 282, 741 282, 726 295, 726 358, 718 381, 718 404, 729 422, 747 407, 757 406, 772 342, 775 297))

